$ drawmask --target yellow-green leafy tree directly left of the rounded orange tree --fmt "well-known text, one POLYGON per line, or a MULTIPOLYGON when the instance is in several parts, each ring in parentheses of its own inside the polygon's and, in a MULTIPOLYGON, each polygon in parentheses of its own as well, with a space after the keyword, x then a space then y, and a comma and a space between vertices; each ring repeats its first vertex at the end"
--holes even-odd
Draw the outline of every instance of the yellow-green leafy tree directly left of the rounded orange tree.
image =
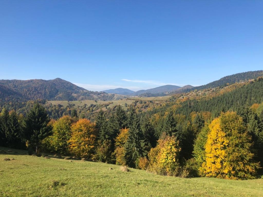
POLYGON ((50 146, 60 154, 68 153, 68 140, 71 137, 71 125, 74 120, 63 116, 53 123, 53 134, 50 136, 50 146))

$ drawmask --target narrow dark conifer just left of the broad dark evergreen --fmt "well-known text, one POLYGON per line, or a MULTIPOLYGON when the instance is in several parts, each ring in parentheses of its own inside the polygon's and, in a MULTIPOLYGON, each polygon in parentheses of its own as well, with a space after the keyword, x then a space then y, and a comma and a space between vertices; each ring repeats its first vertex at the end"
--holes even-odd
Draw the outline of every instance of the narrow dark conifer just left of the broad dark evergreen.
POLYGON ((8 117, 8 132, 6 133, 7 144, 12 148, 22 148, 21 128, 18 123, 16 111, 12 110, 8 117))

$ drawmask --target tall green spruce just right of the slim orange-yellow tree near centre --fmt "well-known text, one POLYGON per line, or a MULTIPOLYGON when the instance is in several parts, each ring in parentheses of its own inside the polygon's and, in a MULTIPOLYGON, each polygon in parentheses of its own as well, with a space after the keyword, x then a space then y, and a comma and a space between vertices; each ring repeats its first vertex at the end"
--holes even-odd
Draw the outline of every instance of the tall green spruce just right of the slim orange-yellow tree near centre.
POLYGON ((131 128, 129 128, 128 140, 125 144, 125 160, 126 164, 130 167, 136 166, 136 161, 146 155, 145 142, 141 132, 139 117, 135 113, 132 121, 131 128))

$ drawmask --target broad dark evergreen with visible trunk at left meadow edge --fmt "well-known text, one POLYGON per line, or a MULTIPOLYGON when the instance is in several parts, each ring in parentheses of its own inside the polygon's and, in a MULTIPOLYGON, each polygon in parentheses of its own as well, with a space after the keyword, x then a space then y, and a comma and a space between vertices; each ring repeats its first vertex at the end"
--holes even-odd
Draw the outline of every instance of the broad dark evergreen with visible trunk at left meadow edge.
POLYGON ((31 108, 24 119, 23 137, 31 146, 36 147, 37 153, 41 140, 51 134, 52 126, 48 124, 49 121, 47 111, 39 103, 31 108))

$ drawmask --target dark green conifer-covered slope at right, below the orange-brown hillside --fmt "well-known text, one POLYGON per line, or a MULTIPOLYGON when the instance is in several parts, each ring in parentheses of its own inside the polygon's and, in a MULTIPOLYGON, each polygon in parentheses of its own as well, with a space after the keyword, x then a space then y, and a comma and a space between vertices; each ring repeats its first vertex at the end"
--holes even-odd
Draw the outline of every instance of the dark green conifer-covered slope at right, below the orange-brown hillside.
POLYGON ((210 99, 201 97, 181 102, 176 108, 176 113, 189 115, 191 112, 208 111, 216 117, 220 112, 231 110, 242 114, 247 107, 261 102, 263 102, 263 78, 210 99))

